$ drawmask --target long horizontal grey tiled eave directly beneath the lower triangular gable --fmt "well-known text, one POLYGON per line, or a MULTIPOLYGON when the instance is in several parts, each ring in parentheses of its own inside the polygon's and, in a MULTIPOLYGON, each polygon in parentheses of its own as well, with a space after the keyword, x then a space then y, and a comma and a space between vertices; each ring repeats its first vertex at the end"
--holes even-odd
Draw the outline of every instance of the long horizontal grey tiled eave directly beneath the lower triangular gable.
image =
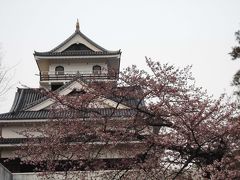
POLYGON ((112 109, 112 108, 98 108, 87 109, 79 112, 51 112, 49 110, 40 111, 18 111, 0 114, 1 120, 26 120, 26 119, 49 119, 49 118, 94 118, 94 117, 132 117, 136 111, 132 109, 112 109), (77 114, 76 114, 77 113, 77 114), (73 115, 74 114, 74 115, 73 115))

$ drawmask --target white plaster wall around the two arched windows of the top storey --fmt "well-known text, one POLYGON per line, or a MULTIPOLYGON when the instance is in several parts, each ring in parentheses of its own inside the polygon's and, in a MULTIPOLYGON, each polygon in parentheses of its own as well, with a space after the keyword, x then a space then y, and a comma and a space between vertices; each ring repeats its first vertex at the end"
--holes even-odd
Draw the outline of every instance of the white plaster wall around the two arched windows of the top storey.
POLYGON ((55 68, 57 66, 63 66, 64 67, 64 71, 67 73, 67 72, 77 72, 79 71, 80 73, 83 72, 83 73, 86 73, 86 74, 89 74, 89 73, 92 73, 92 68, 94 65, 99 65, 102 67, 102 73, 107 73, 107 64, 105 62, 59 62, 59 63, 51 63, 49 65, 49 71, 50 72, 54 72, 55 71, 55 68))

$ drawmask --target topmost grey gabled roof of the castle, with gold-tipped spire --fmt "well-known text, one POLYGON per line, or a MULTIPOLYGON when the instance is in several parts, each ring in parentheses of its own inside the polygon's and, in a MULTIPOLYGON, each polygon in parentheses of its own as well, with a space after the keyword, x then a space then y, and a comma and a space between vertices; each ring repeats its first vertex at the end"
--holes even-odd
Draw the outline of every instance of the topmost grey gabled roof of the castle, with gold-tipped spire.
POLYGON ((78 22, 76 31, 57 47, 47 52, 34 52, 34 56, 99 56, 117 54, 121 54, 120 50, 106 50, 84 35, 79 29, 78 22))

